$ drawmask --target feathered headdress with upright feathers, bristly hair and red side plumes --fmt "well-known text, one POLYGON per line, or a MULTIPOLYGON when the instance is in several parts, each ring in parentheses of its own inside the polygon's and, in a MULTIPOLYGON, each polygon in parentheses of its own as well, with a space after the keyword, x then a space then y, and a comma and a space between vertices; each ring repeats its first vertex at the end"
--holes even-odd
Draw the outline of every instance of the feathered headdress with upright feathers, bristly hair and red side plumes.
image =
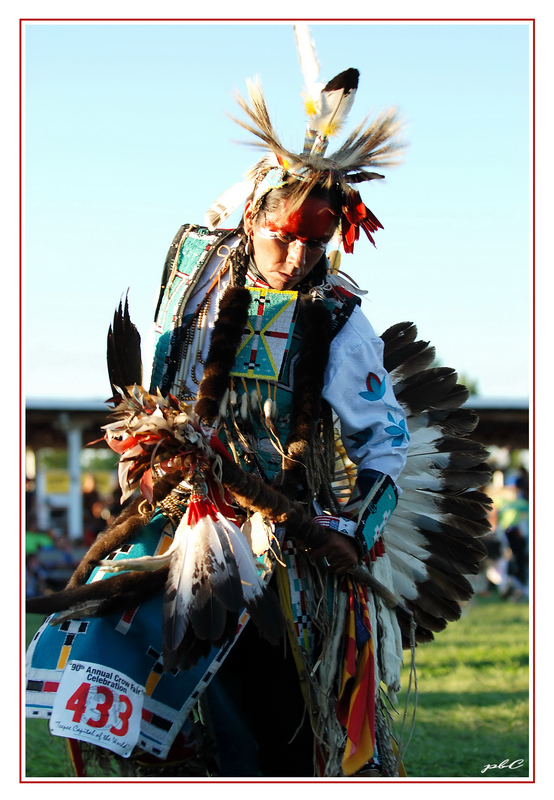
POLYGON ((342 194, 340 233, 345 252, 351 253, 359 238, 360 228, 374 243, 372 234, 383 226, 362 201, 353 184, 383 178, 375 167, 397 163, 402 149, 397 135, 400 123, 394 109, 382 112, 367 123, 358 125, 344 143, 326 155, 330 138, 344 127, 358 87, 359 72, 347 69, 327 84, 318 82, 319 63, 307 25, 295 25, 296 43, 305 81, 303 94, 308 124, 301 153, 287 150, 279 140, 265 103, 260 84, 247 81, 248 101, 237 94, 237 102, 249 118, 234 119, 261 141, 254 142, 269 152, 249 171, 246 180, 235 184, 212 204, 206 224, 218 227, 248 198, 254 211, 271 189, 292 184, 290 210, 298 208, 314 185, 325 188, 335 185, 342 194))

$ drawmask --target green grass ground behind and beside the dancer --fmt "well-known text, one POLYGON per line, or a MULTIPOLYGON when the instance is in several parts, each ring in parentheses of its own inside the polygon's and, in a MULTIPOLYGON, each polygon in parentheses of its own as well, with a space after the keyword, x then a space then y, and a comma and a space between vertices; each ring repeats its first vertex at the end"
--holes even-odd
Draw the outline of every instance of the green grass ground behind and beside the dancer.
MULTIPOLYGON (((40 622, 27 617, 27 641, 40 622)), ((435 642, 417 648, 408 778, 529 777, 528 631, 527 603, 478 598, 435 642)), ((72 776, 64 740, 50 736, 45 721, 27 721, 26 742, 26 777, 72 776)))

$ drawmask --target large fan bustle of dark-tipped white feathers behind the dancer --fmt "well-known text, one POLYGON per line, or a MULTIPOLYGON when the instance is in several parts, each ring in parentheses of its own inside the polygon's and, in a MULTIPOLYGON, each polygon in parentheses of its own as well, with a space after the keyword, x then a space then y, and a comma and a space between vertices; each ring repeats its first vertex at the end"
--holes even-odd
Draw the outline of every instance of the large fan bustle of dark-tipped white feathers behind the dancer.
POLYGON ((491 476, 488 452, 468 438, 478 419, 462 407, 469 392, 454 370, 431 366, 434 349, 416 337, 411 322, 381 337, 384 366, 410 432, 398 479, 402 493, 383 532, 405 647, 410 615, 418 642, 431 641, 459 618, 461 604, 473 595, 469 578, 486 556, 481 537, 490 530, 491 507, 482 491, 491 476))

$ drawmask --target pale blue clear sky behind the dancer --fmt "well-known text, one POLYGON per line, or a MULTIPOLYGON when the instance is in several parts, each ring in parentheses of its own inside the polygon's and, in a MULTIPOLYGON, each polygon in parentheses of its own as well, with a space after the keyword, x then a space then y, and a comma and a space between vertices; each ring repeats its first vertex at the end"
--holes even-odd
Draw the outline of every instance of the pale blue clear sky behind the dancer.
MULTIPOLYGON (((529 391, 530 30, 525 22, 311 25, 321 78, 353 66, 352 125, 394 105, 403 165, 362 195, 384 225, 343 269, 377 331, 413 320, 484 397, 529 391)), ((27 23, 25 391, 105 399, 129 289, 143 338, 171 240, 257 158, 227 113, 259 76, 299 146, 291 24, 27 23)))

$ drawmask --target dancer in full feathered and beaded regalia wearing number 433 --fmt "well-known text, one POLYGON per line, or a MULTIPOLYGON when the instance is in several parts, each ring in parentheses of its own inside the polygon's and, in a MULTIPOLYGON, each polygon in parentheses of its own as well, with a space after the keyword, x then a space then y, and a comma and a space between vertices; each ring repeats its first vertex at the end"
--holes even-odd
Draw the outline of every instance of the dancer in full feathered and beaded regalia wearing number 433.
POLYGON ((250 85, 241 124, 268 153, 178 231, 149 377, 127 302, 110 328, 105 438, 127 505, 67 589, 28 604, 50 616, 27 714, 67 737, 78 775, 95 759, 135 776, 403 774, 403 654, 460 616, 485 554, 467 390, 411 323, 378 337, 326 254, 382 227, 353 185, 382 177, 398 123, 384 113, 326 157, 358 72, 314 89, 297 41, 303 152, 250 85))

